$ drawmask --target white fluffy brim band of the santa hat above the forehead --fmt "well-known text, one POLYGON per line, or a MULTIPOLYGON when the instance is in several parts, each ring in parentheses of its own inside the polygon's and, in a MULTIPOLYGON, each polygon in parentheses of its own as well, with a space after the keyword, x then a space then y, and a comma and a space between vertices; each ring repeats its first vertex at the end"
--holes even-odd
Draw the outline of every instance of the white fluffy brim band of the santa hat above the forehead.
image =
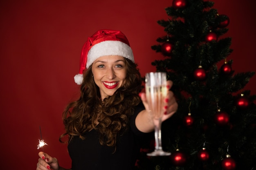
POLYGON ((103 41, 92 46, 87 55, 86 68, 88 68, 97 58, 107 55, 119 55, 134 62, 132 49, 121 41, 103 41))

